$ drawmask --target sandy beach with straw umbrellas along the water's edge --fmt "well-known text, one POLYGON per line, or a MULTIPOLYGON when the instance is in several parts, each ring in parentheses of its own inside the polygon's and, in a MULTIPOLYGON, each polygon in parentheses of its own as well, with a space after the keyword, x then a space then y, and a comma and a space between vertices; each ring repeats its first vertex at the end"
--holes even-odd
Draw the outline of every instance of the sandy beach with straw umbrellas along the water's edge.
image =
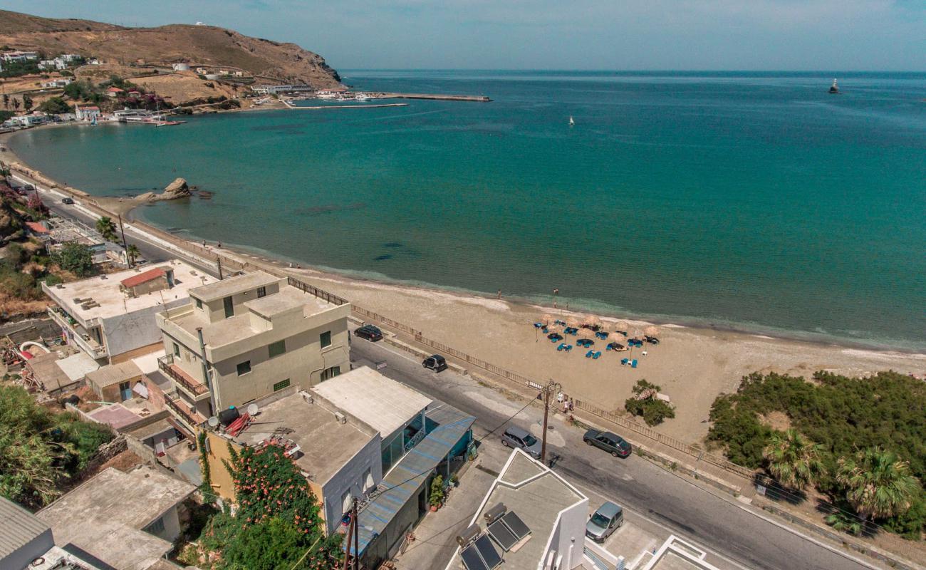
MULTIPOLYGON (((8 137, 9 133, 0 135, 0 141, 8 137)), ((0 159, 7 163, 18 160, 24 165, 12 149, 0 153, 0 159)), ((130 198, 94 196, 93 200, 100 207, 122 215, 128 215, 131 209, 140 205, 130 198)), ((273 259, 271 253, 257 254, 245 248, 234 252, 239 256, 277 263, 282 268, 288 265, 273 259)), ((827 370, 864 376, 887 369, 904 374, 926 372, 926 354, 923 353, 865 349, 782 338, 767 333, 672 323, 660 324, 663 331, 660 345, 634 349, 632 356, 639 365, 632 369, 619 364, 619 360, 628 353, 606 351, 606 342, 596 342, 594 348, 601 350, 602 355, 593 360, 585 358, 586 350, 578 347, 569 353, 557 352, 557 345, 538 334, 532 326, 544 313, 564 318, 579 315, 580 319, 585 316, 582 313, 539 307, 523 299, 496 299, 382 283, 315 269, 288 271, 299 273, 312 285, 347 298, 364 309, 405 323, 447 346, 511 372, 538 382, 554 378, 569 394, 606 410, 622 410, 623 401, 630 396, 632 386, 637 380, 645 378, 662 386, 662 391, 669 394, 676 405, 677 417, 659 426, 659 431, 688 443, 697 443, 707 434, 711 403, 721 392, 734 391, 745 374, 758 371, 809 376, 814 371, 827 370), (645 356, 643 350, 646 351, 645 356)), ((614 330, 613 323, 618 320, 616 317, 603 318, 608 331, 614 330)), ((632 317, 620 320, 638 327, 646 324, 632 317)), ((569 336, 569 339, 574 340, 574 337, 569 336)))

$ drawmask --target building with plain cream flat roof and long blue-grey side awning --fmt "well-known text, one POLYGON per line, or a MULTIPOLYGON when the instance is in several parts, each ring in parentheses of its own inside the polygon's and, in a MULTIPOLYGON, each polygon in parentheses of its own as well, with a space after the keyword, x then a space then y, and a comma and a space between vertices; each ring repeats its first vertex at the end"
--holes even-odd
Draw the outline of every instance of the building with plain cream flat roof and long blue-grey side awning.
POLYGON ((368 567, 378 567, 428 512, 433 477, 446 480, 463 464, 476 419, 367 367, 313 386, 308 393, 380 433, 382 483, 366 496, 358 515, 360 558, 368 567))

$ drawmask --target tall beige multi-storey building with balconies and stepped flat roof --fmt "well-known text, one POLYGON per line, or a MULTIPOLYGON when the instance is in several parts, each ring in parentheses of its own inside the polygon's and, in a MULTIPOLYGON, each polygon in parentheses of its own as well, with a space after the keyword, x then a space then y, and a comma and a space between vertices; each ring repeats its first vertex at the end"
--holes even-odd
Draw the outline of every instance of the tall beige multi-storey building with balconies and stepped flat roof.
POLYGON ((349 314, 349 304, 265 272, 194 287, 188 302, 156 315, 166 353, 158 366, 179 395, 171 409, 195 430, 219 410, 346 372, 349 314))

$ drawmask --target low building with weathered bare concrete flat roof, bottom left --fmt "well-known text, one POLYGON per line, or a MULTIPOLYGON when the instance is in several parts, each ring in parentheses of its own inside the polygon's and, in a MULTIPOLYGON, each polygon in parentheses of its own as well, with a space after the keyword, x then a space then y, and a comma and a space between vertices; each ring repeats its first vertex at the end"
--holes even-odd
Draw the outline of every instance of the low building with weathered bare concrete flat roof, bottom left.
POLYGON ((58 546, 73 544, 119 570, 148 570, 167 562, 181 534, 181 503, 195 490, 155 467, 110 467, 36 516, 58 546))

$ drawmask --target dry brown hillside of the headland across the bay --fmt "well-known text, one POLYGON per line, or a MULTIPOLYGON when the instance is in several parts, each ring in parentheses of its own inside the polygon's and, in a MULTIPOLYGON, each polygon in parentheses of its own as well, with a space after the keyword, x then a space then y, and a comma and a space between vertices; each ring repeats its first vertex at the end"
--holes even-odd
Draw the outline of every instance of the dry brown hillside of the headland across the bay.
POLYGON ((0 45, 98 57, 125 64, 185 62, 193 66, 226 66, 258 79, 332 87, 337 71, 323 57, 296 44, 282 44, 215 26, 172 24, 158 28, 122 28, 81 19, 46 19, 0 10, 0 45))

